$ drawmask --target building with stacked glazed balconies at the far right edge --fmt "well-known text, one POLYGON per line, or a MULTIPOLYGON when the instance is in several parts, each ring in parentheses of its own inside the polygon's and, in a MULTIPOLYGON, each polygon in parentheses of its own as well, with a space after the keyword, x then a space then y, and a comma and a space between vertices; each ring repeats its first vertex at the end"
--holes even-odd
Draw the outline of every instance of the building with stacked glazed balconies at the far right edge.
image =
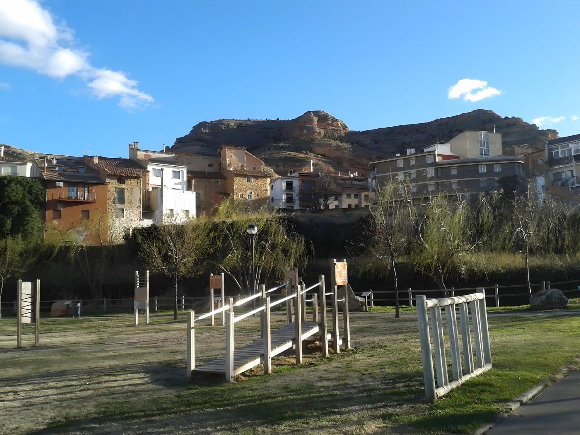
POLYGON ((568 191, 580 187, 580 135, 548 140, 545 155, 550 186, 568 191))

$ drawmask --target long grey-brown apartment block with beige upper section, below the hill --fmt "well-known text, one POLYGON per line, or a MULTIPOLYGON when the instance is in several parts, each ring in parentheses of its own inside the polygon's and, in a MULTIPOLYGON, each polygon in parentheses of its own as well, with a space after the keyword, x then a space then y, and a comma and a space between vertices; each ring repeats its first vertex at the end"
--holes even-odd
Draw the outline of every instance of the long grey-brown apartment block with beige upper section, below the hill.
POLYGON ((374 186, 387 180, 408 180, 414 197, 438 191, 481 193, 498 189, 521 190, 524 183, 521 155, 502 155, 501 134, 463 132, 448 143, 434 144, 416 153, 374 161, 374 186))

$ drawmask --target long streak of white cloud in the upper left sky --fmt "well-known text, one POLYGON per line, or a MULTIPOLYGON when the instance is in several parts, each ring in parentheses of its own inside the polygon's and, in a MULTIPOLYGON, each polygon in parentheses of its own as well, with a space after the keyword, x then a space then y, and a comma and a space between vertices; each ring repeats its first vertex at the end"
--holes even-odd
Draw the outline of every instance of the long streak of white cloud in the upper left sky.
POLYGON ((89 53, 75 48, 74 42, 74 31, 66 23, 55 24, 38 1, 0 1, 0 63, 58 79, 76 75, 97 98, 119 97, 121 107, 153 102, 126 73, 92 66, 89 53))

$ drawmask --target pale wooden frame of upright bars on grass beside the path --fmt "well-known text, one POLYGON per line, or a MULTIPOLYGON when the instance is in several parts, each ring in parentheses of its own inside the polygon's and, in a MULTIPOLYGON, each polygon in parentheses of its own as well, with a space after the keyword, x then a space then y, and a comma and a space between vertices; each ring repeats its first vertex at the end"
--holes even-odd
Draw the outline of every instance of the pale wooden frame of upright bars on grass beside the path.
POLYGON ((434 401, 455 387, 462 385, 467 379, 473 378, 487 370, 491 365, 490 333, 487 324, 484 289, 477 293, 452 298, 426 299, 426 296, 416 296, 417 317, 419 321, 419 340, 423 359, 423 378, 425 379, 425 396, 434 401), (469 305, 469 306, 468 306, 469 305), (459 346, 459 331, 455 307, 459 307, 459 322, 461 325, 462 349, 459 346), (447 322, 449 358, 453 380, 449 380, 447 355, 445 354, 445 339, 441 307, 445 308, 447 322), (430 311, 431 329, 433 331, 433 347, 435 357, 435 373, 433 372, 433 356, 431 335, 427 309, 430 311), (471 327, 469 310, 473 323, 474 347, 476 362, 473 361, 471 327), (463 367, 461 354, 463 353, 463 367), (465 368, 465 374, 463 374, 465 368), (437 374, 437 378, 435 376, 437 374), (436 381, 437 380, 437 387, 436 381))

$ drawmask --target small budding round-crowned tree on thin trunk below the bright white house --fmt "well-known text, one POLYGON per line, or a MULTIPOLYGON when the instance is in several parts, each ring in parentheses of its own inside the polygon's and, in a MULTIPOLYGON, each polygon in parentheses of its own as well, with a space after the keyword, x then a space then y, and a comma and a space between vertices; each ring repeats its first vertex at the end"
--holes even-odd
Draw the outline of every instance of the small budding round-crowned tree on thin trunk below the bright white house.
POLYGON ((177 320, 177 280, 193 276, 198 260, 204 256, 209 240, 204 226, 193 221, 160 223, 150 231, 136 233, 136 240, 139 256, 148 269, 173 278, 173 320, 177 320))

